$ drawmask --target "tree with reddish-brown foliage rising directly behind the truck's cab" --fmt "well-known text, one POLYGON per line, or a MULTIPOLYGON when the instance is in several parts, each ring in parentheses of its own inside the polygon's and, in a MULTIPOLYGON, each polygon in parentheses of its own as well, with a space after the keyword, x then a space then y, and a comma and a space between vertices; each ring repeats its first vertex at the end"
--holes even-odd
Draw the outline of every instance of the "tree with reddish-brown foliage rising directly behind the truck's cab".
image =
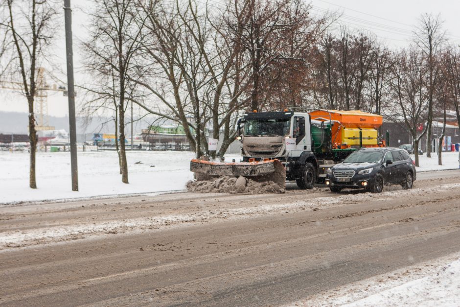
POLYGON ((235 27, 251 69, 248 107, 271 109, 272 97, 299 104, 327 17, 313 18, 311 6, 300 0, 237 0, 235 7, 246 7, 248 17, 235 27))

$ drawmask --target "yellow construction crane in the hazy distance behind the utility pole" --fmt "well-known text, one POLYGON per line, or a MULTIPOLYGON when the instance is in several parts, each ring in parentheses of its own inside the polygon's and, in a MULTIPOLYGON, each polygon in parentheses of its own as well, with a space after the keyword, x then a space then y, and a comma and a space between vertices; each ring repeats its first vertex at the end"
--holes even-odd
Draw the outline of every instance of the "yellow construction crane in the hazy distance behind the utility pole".
MULTIPOLYGON (((23 91, 23 83, 16 81, 0 80, 1 89, 9 89, 15 91, 23 91)), ((36 131, 54 130, 53 126, 49 125, 48 118, 48 91, 63 92, 67 96, 67 88, 56 84, 49 85, 46 83, 45 69, 40 67, 37 73, 37 89, 35 91, 35 113, 37 114, 36 131)))

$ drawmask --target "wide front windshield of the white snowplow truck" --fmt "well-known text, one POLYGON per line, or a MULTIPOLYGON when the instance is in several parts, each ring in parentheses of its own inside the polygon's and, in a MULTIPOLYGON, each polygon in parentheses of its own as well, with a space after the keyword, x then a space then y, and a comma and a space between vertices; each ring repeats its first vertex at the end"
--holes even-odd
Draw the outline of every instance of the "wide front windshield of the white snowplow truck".
POLYGON ((245 136, 286 136, 289 134, 290 119, 249 119, 244 124, 245 136))

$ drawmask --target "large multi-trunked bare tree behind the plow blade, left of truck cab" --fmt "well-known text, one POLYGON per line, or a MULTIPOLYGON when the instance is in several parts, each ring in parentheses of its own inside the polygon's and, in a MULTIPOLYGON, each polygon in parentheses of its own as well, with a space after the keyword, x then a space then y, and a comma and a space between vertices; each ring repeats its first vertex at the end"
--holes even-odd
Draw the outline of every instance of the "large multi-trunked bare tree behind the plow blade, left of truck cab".
POLYGON ((143 66, 132 76, 145 93, 135 102, 147 112, 175 121, 197 157, 209 154, 206 136, 223 139, 223 156, 235 138, 241 95, 249 84, 241 42, 233 32, 244 8, 198 6, 189 0, 162 5, 140 4, 146 18, 143 66), (212 13, 211 13, 212 12, 212 13))

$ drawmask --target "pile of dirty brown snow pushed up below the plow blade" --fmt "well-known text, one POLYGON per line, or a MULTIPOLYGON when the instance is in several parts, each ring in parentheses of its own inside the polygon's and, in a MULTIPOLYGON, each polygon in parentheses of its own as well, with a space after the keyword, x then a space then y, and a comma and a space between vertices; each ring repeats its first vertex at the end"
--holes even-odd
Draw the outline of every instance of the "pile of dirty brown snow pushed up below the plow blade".
POLYGON ((284 193, 286 191, 284 187, 273 181, 257 182, 243 176, 222 176, 210 180, 189 181, 187 189, 190 192, 232 194, 284 193))

